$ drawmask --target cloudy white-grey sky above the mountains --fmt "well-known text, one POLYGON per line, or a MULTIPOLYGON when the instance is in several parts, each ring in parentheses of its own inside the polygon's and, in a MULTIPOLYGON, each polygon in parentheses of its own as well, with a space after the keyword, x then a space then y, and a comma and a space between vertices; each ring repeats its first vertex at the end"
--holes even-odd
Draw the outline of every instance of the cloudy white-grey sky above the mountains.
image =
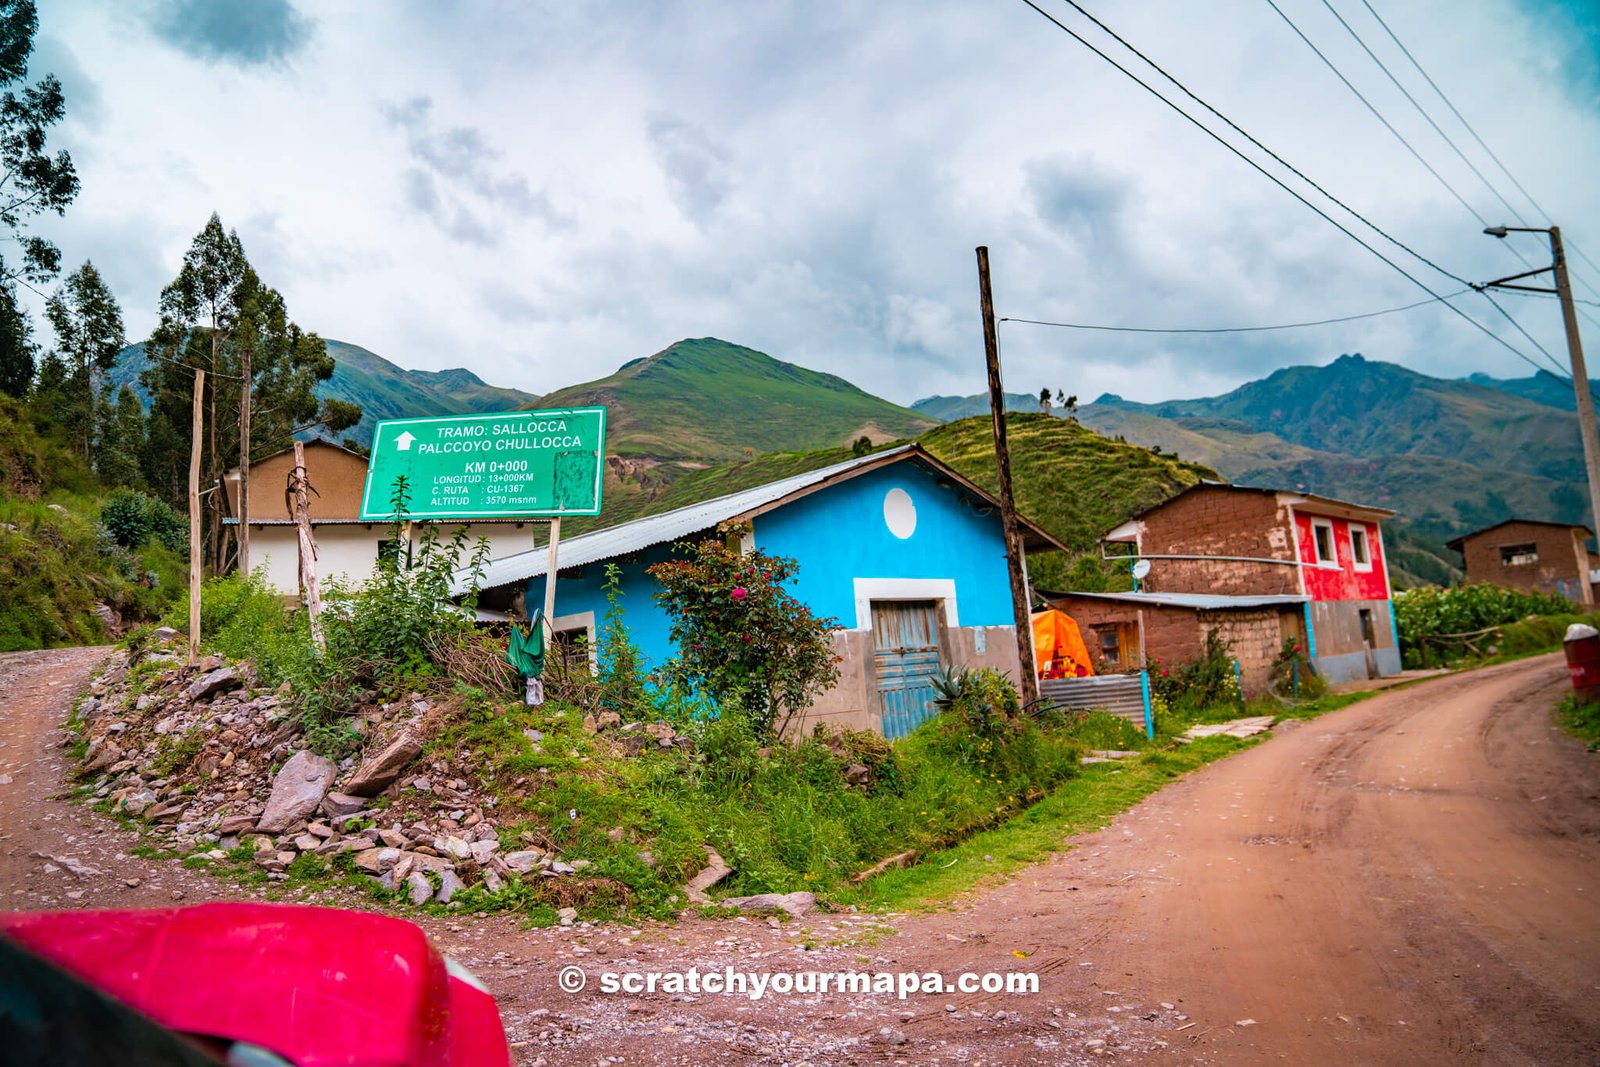
MULTIPOLYGON (((1037 2, 1138 64, 1062 0, 1037 2)), ((1592 0, 1274 0, 1440 178, 1267 0, 1080 2, 1445 270, 1478 282, 1526 269, 1517 251, 1549 262, 1542 235, 1480 234, 1474 211, 1517 219, 1331 13, 1544 224, 1376 10, 1600 262, 1592 0)), ((1427 299, 1021 0, 38 6, 35 67, 69 109, 53 144, 83 182, 38 229, 69 266, 102 269, 133 338, 211 211, 302 326, 530 392, 698 336, 901 403, 981 392, 976 245, 1016 318, 1246 326, 1427 299)), ((1462 288, 1307 195, 1435 293, 1462 288)), ((1579 296, 1600 301, 1600 269, 1571 259, 1579 296)), ((1454 304, 1542 362, 1483 298, 1454 304)), ((1501 304, 1565 358, 1554 304, 1501 304)), ((1600 304, 1586 314, 1600 338, 1600 304)), ((1008 389, 1083 398, 1206 395, 1342 352, 1533 373, 1440 304, 1278 333, 1002 323, 1000 338, 1008 389)))

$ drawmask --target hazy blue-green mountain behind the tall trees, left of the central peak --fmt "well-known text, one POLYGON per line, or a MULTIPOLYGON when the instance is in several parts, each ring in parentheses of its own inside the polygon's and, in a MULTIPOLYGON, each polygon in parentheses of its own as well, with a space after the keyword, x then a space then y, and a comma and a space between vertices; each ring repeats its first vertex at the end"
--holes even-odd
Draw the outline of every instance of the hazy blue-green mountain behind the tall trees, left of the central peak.
MULTIPOLYGON (((333 378, 317 387, 317 395, 362 405, 362 421, 341 435, 360 445, 373 443, 373 426, 379 419, 517 411, 533 406, 536 400, 520 389, 490 386, 459 366, 448 371, 408 371, 344 341, 328 341, 328 354, 334 360, 333 378)), ((149 395, 139 384, 146 366, 149 357, 144 342, 130 344, 117 355, 109 379, 118 389, 123 384, 133 386, 139 398, 149 403, 149 395)))

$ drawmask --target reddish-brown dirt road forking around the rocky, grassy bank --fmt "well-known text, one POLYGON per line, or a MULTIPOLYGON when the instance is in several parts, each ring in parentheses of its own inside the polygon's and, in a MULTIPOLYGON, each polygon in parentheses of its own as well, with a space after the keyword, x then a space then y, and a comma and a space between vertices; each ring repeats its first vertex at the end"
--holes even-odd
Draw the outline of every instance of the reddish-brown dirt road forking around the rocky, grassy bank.
MULTIPOLYGON (((32 656, 62 659, 0 657, 8 905, 226 894, 51 798, 51 723, 90 654, 32 656), (34 856, 67 848, 106 877, 34 856)), ((1546 656, 1280 728, 931 915, 424 925, 501 998, 522 1064, 1600 1062, 1600 757, 1550 723, 1563 685, 1546 656), (568 965, 589 973, 578 995, 557 985, 568 965), (1032 971, 1040 993, 598 992, 602 971, 690 966, 1032 971)))

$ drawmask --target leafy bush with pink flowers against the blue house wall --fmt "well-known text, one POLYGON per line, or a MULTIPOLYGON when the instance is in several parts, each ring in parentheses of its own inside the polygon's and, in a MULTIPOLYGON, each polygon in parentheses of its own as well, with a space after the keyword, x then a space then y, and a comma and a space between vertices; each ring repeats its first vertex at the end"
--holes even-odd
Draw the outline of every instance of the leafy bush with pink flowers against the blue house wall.
POLYGON ((725 713, 747 715, 765 737, 781 734, 838 678, 827 640, 837 621, 814 616, 784 587, 798 563, 741 552, 744 530, 680 545, 685 558, 658 563, 650 574, 661 582, 656 600, 672 621, 678 670, 725 713))

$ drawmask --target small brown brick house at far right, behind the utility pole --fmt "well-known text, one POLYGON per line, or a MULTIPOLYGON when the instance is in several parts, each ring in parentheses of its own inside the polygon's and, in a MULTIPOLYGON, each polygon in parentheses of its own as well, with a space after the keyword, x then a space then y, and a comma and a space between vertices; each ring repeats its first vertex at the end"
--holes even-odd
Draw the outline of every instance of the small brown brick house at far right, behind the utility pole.
POLYGON ((1507 518, 1448 542, 1461 553, 1469 582, 1555 593, 1576 605, 1595 603, 1589 526, 1507 518))

